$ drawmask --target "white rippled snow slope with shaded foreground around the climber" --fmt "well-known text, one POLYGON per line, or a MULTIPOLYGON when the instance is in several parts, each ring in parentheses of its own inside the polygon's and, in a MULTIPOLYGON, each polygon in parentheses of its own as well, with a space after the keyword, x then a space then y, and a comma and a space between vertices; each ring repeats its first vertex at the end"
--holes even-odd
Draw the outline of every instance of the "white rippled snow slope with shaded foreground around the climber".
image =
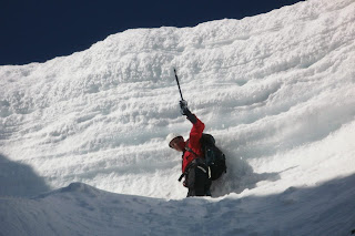
POLYGON ((0 66, 0 235, 351 235, 355 1, 135 29, 0 66), (184 99, 227 156, 184 198, 184 99))

